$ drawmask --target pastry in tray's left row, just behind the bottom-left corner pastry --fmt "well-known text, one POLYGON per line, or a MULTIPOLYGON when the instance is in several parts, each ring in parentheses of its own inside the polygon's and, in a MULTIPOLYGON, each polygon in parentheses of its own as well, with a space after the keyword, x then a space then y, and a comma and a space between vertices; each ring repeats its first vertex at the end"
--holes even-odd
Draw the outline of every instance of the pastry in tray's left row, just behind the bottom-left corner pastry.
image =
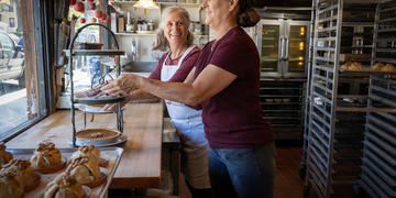
POLYGON ((25 191, 31 191, 40 185, 40 175, 32 168, 29 161, 13 158, 2 168, 15 172, 25 191))

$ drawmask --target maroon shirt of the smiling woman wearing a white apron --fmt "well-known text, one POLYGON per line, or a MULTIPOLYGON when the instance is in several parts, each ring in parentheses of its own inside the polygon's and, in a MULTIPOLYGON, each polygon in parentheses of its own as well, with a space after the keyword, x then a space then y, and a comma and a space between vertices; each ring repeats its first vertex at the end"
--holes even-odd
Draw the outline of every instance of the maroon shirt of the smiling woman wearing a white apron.
MULTIPOLYGON (((183 82, 187 78, 187 76, 191 72, 191 69, 194 68, 194 66, 197 62, 197 58, 199 56, 199 52, 200 52, 200 50, 198 47, 194 47, 183 59, 180 67, 176 70, 176 73, 172 76, 172 78, 168 81, 178 81, 178 82, 182 81, 183 82)), ((161 69, 163 67, 163 63, 165 62, 165 58, 167 55, 168 55, 168 53, 165 53, 160 58, 158 65, 155 67, 155 69, 152 72, 152 74, 148 76, 148 78, 161 80, 161 69)), ((176 67, 177 63, 180 61, 179 58, 170 59, 170 56, 169 56, 166 64, 174 65, 176 67)))

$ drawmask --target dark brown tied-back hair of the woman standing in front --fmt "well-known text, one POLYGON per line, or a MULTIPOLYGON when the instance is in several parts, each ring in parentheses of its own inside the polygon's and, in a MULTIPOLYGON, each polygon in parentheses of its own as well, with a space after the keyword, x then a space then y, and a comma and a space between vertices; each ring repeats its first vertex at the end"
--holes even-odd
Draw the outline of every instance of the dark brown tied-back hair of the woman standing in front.
POLYGON ((260 21, 258 13, 250 4, 251 0, 240 0, 237 14, 238 25, 243 28, 254 26, 260 21))

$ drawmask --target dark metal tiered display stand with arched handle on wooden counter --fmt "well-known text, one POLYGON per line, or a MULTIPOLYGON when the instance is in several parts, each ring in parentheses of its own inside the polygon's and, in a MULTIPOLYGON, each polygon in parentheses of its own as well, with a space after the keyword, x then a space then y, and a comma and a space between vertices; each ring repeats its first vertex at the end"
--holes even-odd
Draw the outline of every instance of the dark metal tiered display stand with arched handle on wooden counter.
MULTIPOLYGON (((125 52, 120 50, 119 43, 117 41, 117 37, 114 33, 106 25, 100 23, 90 23, 81 26, 76 34, 74 35, 68 50, 66 51, 66 56, 69 58, 69 78, 70 78, 70 113, 72 113, 72 125, 73 125, 73 138, 72 138, 72 145, 76 146, 76 122, 75 122, 75 110, 76 110, 76 103, 81 105, 105 105, 105 103, 117 103, 117 110, 114 113, 117 114, 117 129, 122 132, 123 131, 123 116, 121 110, 121 101, 125 99, 123 96, 118 97, 106 97, 103 99, 90 99, 90 98, 76 98, 74 92, 74 82, 73 82, 73 58, 75 56, 118 56, 116 62, 116 77, 120 76, 121 74, 121 67, 120 67, 120 55, 124 55, 125 52), (114 40, 116 50, 75 50, 74 45, 76 42, 76 38, 78 37, 79 33, 88 28, 88 26, 99 26, 103 28, 108 32, 110 32, 110 35, 114 40)), ((111 111, 109 111, 111 112, 111 111)), ((96 113, 96 112, 91 112, 96 113)), ((99 112, 98 112, 99 113, 99 112)), ((105 113, 105 112, 101 112, 105 113)))

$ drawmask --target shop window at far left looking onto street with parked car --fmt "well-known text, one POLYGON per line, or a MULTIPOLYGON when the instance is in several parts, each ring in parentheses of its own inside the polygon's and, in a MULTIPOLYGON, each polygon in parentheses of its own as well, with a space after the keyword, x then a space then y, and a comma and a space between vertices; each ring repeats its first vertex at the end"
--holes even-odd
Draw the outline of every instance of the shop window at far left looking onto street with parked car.
POLYGON ((44 58, 45 48, 38 47, 46 46, 46 36, 42 35, 46 34, 42 31, 45 23, 34 21, 45 19, 43 9, 38 10, 44 8, 43 1, 21 1, 21 7, 14 7, 14 2, 11 0, 7 6, 10 9, 0 3, 0 15, 13 11, 9 23, 2 21, 6 23, 0 26, 0 141, 9 140, 45 117, 48 109, 46 96, 51 96, 45 86, 37 84, 37 79, 48 79, 44 75, 48 67, 44 58), (15 28, 15 18, 22 19, 18 24, 21 29, 15 28), (30 51, 24 52, 24 46, 30 51))

